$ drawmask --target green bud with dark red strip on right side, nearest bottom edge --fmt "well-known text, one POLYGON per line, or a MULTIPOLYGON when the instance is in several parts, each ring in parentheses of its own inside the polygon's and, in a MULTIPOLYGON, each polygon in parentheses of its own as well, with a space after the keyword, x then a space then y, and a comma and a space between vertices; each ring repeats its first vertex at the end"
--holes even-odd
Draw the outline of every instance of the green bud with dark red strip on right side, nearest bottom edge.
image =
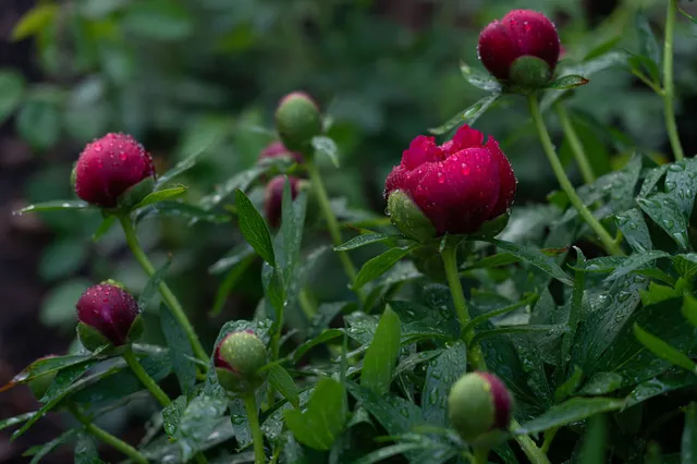
POLYGON ((453 427, 469 443, 511 423, 513 399, 493 374, 469 373, 455 382, 448 396, 453 427))

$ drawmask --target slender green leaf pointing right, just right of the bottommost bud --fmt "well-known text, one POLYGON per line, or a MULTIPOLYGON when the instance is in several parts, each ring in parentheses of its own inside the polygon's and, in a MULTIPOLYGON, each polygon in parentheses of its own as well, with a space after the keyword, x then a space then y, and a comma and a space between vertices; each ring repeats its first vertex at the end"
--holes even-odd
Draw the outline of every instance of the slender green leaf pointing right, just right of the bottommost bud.
POLYGON ((624 400, 614 398, 572 398, 571 400, 552 406, 539 417, 524 423, 513 430, 514 435, 539 434, 552 427, 562 427, 596 414, 616 411, 624 406, 624 400))

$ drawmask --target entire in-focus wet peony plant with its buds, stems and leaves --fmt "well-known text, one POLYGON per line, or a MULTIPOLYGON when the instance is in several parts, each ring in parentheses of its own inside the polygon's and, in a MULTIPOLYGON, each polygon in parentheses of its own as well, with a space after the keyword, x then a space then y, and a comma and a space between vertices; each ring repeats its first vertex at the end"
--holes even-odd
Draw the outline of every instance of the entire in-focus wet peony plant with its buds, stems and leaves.
POLYGON ((491 76, 462 70, 489 94, 403 151, 384 181, 389 221, 338 218, 320 170, 323 160, 339 167, 331 121, 305 93, 280 100, 278 139, 257 163, 198 202, 172 182, 198 154, 158 173, 129 135, 88 144, 71 179, 80 199, 20 212, 100 211, 95 240, 119 225, 149 280, 137 300, 115 281, 85 291, 75 303, 80 345, 3 388, 27 383, 41 406, 0 428, 20 426, 19 437, 48 413, 76 419, 29 450, 32 462, 73 441, 80 463, 100 462, 95 441, 137 463, 695 462, 697 163, 675 123, 678 9, 667 3, 662 57, 641 19, 638 53, 606 47, 572 63, 560 61, 541 13, 514 10, 488 25, 478 53, 491 76), (565 103, 617 62, 662 98, 675 161, 637 152, 597 175, 565 103), (473 129, 514 99, 527 101, 559 183, 547 205, 514 203, 509 159, 473 129), (578 188, 548 132, 551 110, 583 173, 578 188), (260 198, 248 195, 259 185, 260 198), (525 229, 536 211, 547 230, 525 229), (242 244, 213 265, 227 289, 262 262, 255 317, 225 322, 209 347, 167 283, 169 262, 157 268, 139 242, 145 218, 171 215, 235 223, 242 244), (331 249, 308 246, 308 229, 331 249), (356 266, 363 247, 375 253, 356 266), (323 257, 337 258, 345 301, 305 291, 323 257), (158 295, 164 344, 142 343, 143 309, 158 295), (176 386, 163 389, 170 377, 176 386), (143 392, 161 408, 137 447, 96 425, 143 392), (648 407, 658 400, 659 415, 648 407), (680 437, 664 440, 661 425, 678 416, 680 437))

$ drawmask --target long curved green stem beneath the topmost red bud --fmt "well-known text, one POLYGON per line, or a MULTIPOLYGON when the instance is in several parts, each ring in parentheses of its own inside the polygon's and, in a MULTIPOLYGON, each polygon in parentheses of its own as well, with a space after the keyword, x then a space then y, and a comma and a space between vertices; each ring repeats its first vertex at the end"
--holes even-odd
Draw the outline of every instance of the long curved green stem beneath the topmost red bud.
POLYGON ((557 156, 557 151, 554 151, 554 146, 552 145, 552 141, 549 137, 549 132, 547 132, 547 126, 545 125, 545 120, 542 119, 542 114, 540 113, 540 107, 537 101, 537 97, 535 95, 528 96, 528 102, 530 107, 530 114, 533 115, 533 120, 535 121, 535 125, 537 127, 537 134, 542 144, 542 149, 545 150, 545 155, 547 155, 547 159, 557 175, 557 180, 559 181, 559 185, 562 187, 571 204, 576 208, 582 218, 590 225, 590 228, 596 232, 596 235, 600 239, 600 242, 604 246, 606 251, 611 255, 622 256, 622 248, 619 244, 616 244, 606 228, 592 216, 592 212, 584 205, 580 200, 574 186, 571 184, 571 181, 566 176, 566 172, 564 172, 564 167, 562 162, 559 160, 559 156, 557 156))

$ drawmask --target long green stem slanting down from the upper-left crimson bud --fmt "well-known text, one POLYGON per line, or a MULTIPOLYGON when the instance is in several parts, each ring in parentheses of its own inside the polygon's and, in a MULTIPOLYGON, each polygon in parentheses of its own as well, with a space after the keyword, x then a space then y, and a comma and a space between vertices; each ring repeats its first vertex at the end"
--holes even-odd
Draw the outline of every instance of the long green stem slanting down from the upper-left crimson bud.
MULTIPOLYGON (((152 277, 152 274, 155 274, 156 272, 155 266, 152 266, 152 262, 150 262, 145 252, 143 251, 140 243, 138 242, 138 237, 135 233, 135 227, 133 225, 133 221, 126 215, 121 216, 119 218, 119 221, 121 222, 121 227, 123 228, 123 233, 126 236, 126 243, 129 244, 129 248, 131 248, 133 256, 138 261, 143 270, 149 277, 152 277)), ((160 294, 162 295, 162 300, 164 300, 164 303, 172 312, 172 316, 174 316, 174 319, 176 319, 176 321, 182 326, 182 328, 186 332, 186 337, 188 338, 188 341, 192 344, 192 347, 194 350, 194 354, 196 355, 196 357, 198 357, 200 361, 205 363, 208 363, 208 353, 206 353, 206 350, 204 350, 204 346, 200 344, 200 341, 198 340, 198 335, 196 334, 194 327, 188 321, 188 318, 184 313, 184 308, 182 308, 182 305, 180 304, 179 300, 176 300, 176 296, 174 296, 174 293, 172 293, 172 291, 170 290, 167 282, 164 282, 164 280, 160 281, 159 290, 160 290, 160 294)))

